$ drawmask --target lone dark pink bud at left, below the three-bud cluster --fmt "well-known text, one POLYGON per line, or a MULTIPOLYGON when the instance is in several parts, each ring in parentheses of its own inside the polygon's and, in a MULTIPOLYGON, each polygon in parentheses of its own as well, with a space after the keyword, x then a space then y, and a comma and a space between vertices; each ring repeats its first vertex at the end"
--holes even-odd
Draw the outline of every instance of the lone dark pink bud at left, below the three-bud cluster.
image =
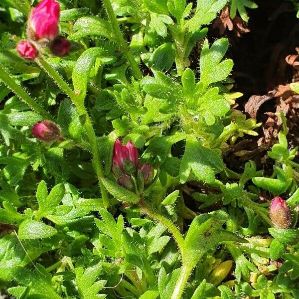
POLYGON ((33 135, 45 142, 62 140, 60 129, 55 123, 42 121, 35 124, 32 128, 33 135))

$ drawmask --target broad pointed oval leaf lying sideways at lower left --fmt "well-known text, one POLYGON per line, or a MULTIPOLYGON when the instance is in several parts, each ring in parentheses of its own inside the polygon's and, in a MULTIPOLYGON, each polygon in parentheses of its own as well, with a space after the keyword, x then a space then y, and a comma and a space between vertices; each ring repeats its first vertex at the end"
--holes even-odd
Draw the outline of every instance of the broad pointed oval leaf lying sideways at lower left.
POLYGON ((18 230, 20 239, 49 238, 56 234, 57 230, 54 227, 35 220, 23 221, 18 230))

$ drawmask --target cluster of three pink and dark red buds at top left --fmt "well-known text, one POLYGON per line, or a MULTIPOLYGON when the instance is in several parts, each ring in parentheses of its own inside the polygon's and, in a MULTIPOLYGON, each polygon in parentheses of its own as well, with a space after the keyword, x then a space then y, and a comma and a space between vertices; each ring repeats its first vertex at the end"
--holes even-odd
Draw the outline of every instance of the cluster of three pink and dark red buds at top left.
POLYGON ((71 43, 58 35, 59 16, 60 6, 55 0, 42 0, 32 9, 27 26, 28 40, 21 40, 16 46, 21 57, 33 60, 42 47, 49 47, 56 56, 69 52, 71 43))

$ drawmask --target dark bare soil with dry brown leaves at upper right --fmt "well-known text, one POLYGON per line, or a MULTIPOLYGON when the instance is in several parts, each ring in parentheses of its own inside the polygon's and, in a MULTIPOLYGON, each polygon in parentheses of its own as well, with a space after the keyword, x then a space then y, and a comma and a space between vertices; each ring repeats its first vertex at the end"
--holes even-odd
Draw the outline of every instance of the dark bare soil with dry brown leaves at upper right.
POLYGON ((228 58, 234 61, 232 91, 243 93, 236 109, 262 123, 259 136, 244 136, 225 154, 227 165, 240 171, 252 159, 260 169, 272 168, 267 150, 277 143, 282 128, 275 115, 287 117, 290 148, 299 145, 299 95, 289 84, 299 81, 299 21, 294 3, 282 0, 259 0, 256 9, 247 9, 249 22, 229 17, 225 7, 210 25, 209 38, 227 37, 228 58))

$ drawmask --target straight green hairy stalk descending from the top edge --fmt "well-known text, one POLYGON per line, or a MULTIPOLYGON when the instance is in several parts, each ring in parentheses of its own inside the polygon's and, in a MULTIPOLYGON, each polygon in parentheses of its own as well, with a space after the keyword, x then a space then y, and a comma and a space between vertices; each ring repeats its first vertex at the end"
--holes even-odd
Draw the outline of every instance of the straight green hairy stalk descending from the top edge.
POLYGON ((110 23, 112 25, 112 29, 113 29, 113 32, 116 37, 116 41, 117 41, 119 47, 121 48, 121 50, 123 51, 126 59, 128 60, 134 77, 136 79, 142 79, 142 72, 140 71, 137 62, 135 61, 134 56, 128 47, 128 44, 123 37, 123 34, 119 27, 119 24, 118 24, 117 18, 115 16, 115 13, 113 11, 110 0, 103 0, 103 3, 105 5, 108 17, 110 19, 110 23))

